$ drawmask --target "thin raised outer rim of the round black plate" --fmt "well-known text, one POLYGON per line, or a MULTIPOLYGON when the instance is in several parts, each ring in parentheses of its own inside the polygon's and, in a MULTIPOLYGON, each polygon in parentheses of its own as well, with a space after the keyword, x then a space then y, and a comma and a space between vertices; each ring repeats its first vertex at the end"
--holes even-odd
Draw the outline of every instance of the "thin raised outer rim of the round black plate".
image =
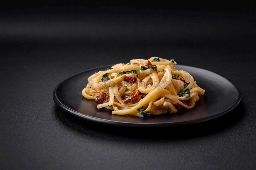
MULTIPOLYGON (((213 119, 216 119, 218 117, 221 117, 225 114, 227 114, 228 112, 234 110, 241 102, 241 93, 238 89, 238 87, 232 83, 230 80, 228 80, 226 77, 220 75, 220 74, 217 74, 215 72, 212 72, 212 71, 209 71, 209 70, 206 70, 206 69, 202 69, 202 70, 206 70, 206 71, 209 71, 209 72, 212 72, 214 74, 217 74, 221 77, 224 77, 229 83, 231 83, 235 88, 236 90, 238 91, 238 95, 239 95, 239 99, 237 101, 237 103, 230 109, 224 111, 224 112, 221 112, 221 113, 218 113, 218 114, 215 114, 215 115, 212 115, 212 116, 208 116, 208 117, 203 117, 203 118, 200 118, 200 119, 195 119, 195 120, 188 120, 188 121, 180 121, 180 122, 163 122, 163 123, 132 123, 132 122, 119 122, 119 121, 113 121, 113 120, 106 120, 106 119, 102 119, 102 118, 98 118, 98 117, 93 117, 93 116, 89 116, 89 115, 86 115, 86 114, 83 114, 83 113, 80 113, 78 111, 75 111, 73 109, 70 109, 69 107, 65 106, 60 100, 59 98, 57 97, 57 88, 60 86, 60 84, 62 84, 64 81, 68 80, 70 77, 73 77, 77 74, 81 74, 83 72, 87 72, 87 71, 91 71, 91 70, 94 70, 94 69, 98 69, 98 68, 103 68, 103 67, 109 67, 109 66, 113 66, 113 64, 110 64, 110 65, 105 65, 105 66, 100 66, 100 67, 95 67, 95 68, 91 68, 91 69, 88 69, 88 70, 84 70, 84 71, 81 71, 81 72, 78 72, 76 74, 73 74, 69 77, 67 77, 66 79, 62 80, 60 83, 58 83, 58 85, 55 87, 54 89, 54 92, 53 92, 53 100, 54 102, 57 104, 58 107, 60 107, 63 111, 73 115, 73 116, 76 116, 80 119, 83 119, 83 120, 86 120, 86 121, 90 121, 90 122, 93 122, 93 123, 99 123, 99 124, 105 124, 105 125, 112 125, 112 126, 125 126, 125 127, 169 127, 169 126, 179 126, 179 125, 188 125, 188 124, 196 124, 196 123, 200 123, 200 122, 206 122, 206 121, 209 121, 209 120, 213 120, 213 119)), ((180 65, 179 66, 186 66, 186 65, 180 65)), ((186 66, 186 67, 192 67, 192 66, 186 66)), ((192 68, 196 68, 196 69, 201 69, 201 68, 198 68, 198 67, 192 67, 192 68)))

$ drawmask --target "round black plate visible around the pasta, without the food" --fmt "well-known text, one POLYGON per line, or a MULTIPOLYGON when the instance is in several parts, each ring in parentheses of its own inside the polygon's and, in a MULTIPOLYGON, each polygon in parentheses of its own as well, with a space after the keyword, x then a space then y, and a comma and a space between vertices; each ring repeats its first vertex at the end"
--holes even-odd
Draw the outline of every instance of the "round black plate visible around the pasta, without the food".
POLYGON ((79 118, 101 124, 160 127, 176 126, 204 122, 222 116, 234 109, 241 100, 237 87, 226 78, 195 67, 175 66, 178 70, 189 72, 197 81, 199 87, 205 89, 205 95, 200 96, 192 109, 178 110, 173 114, 158 116, 136 117, 131 115, 113 115, 106 108, 97 109, 94 100, 82 96, 82 89, 87 84, 87 78, 109 66, 98 67, 77 73, 62 82, 54 90, 55 103, 64 111, 79 118))

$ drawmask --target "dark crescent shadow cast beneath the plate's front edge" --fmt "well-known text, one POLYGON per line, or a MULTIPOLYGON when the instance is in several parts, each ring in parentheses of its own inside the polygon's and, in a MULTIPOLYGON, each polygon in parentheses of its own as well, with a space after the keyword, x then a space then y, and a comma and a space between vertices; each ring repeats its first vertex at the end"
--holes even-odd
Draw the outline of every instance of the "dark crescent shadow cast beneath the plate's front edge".
POLYGON ((58 108, 57 105, 54 105, 52 110, 56 119, 61 122, 63 126, 81 135, 87 134, 97 138, 102 135, 95 135, 95 133, 100 133, 108 135, 108 139, 111 139, 111 136, 114 135, 147 140, 187 139, 218 133, 235 125, 244 114, 244 106, 243 103, 240 102, 240 104, 229 113, 206 122, 173 127, 118 127, 79 119, 64 112, 58 108))

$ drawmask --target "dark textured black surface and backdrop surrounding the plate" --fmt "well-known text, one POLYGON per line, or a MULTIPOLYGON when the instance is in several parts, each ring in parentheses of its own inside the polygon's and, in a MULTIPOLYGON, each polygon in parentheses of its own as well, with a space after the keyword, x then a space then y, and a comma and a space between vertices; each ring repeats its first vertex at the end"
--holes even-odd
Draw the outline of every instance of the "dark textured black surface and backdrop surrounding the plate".
POLYGON ((1 169, 255 169, 255 2, 190 5, 2 5, 1 169), (72 74, 152 56, 225 76, 242 104, 196 125, 121 128, 52 99, 72 74))

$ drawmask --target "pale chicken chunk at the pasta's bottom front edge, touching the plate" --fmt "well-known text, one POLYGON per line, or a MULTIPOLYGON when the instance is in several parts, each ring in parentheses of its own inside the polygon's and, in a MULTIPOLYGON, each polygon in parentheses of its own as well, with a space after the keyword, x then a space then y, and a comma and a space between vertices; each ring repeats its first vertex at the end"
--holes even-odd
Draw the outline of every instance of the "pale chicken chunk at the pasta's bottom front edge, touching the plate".
POLYGON ((159 115, 159 114, 165 114, 168 112, 176 113, 178 110, 175 108, 174 104, 177 104, 177 103, 170 99, 165 99, 164 103, 160 106, 152 105, 151 114, 159 115))

